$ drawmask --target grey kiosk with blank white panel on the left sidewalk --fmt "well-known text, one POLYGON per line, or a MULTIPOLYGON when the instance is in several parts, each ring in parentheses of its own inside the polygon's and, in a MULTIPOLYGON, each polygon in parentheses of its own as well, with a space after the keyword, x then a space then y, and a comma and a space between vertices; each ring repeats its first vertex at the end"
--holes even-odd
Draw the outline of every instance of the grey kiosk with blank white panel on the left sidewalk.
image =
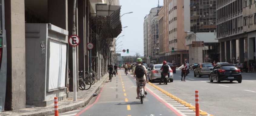
POLYGON ((68 31, 52 24, 25 24, 26 104, 45 107, 66 98, 68 31))

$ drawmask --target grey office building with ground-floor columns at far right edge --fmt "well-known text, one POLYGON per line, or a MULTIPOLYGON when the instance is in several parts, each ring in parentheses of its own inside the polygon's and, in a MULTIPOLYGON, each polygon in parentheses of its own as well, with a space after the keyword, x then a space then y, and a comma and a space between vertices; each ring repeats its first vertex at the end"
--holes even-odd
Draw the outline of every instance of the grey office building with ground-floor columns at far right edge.
POLYGON ((255 62, 256 1, 217 0, 221 61, 255 62))

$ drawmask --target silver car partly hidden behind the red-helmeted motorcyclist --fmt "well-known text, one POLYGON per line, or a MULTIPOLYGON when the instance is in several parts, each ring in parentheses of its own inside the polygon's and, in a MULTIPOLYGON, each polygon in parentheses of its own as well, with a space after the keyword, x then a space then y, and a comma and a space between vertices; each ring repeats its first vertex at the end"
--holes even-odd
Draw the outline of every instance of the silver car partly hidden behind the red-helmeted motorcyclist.
MULTIPOLYGON (((152 66, 151 69, 148 69, 148 78, 149 78, 149 81, 151 82, 154 82, 154 81, 160 81, 160 78, 161 78, 161 66, 162 64, 155 64, 152 66)), ((170 68, 170 66, 168 65, 169 67, 169 71, 170 71, 170 79, 168 79, 168 82, 173 82, 173 72, 170 68)))

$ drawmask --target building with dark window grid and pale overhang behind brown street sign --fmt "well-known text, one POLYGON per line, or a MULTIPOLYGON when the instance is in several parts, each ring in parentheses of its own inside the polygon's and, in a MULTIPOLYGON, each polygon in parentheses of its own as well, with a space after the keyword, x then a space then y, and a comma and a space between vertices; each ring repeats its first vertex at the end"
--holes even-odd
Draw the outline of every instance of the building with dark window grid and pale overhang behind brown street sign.
POLYGON ((184 0, 186 46, 189 47, 189 63, 219 61, 220 46, 216 38, 216 0, 184 0), (192 41, 204 41, 194 47, 192 41))

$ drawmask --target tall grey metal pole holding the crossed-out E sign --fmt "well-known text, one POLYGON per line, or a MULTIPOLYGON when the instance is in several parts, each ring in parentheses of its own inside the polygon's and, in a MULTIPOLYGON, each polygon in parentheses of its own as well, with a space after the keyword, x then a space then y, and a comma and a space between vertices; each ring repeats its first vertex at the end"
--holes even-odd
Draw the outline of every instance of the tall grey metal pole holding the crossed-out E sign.
MULTIPOLYGON (((73 35, 76 35, 75 32, 75 8, 76 8, 76 0, 74 0, 74 6, 73 6, 73 35)), ((73 92, 74 92, 74 101, 77 99, 77 71, 76 71, 76 47, 72 47, 73 51, 73 92)))

